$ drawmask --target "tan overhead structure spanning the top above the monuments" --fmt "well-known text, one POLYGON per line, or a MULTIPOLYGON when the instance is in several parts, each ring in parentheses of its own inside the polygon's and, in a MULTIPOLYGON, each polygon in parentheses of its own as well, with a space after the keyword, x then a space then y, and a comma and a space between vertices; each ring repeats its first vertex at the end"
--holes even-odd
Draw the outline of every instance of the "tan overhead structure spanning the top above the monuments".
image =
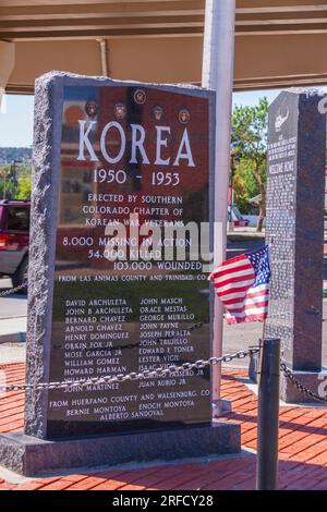
MULTIPOLYGON (((104 59, 112 77, 199 83, 204 9, 205 0, 1 0, 0 40, 15 46, 7 90, 32 93, 52 69, 102 74, 104 59)), ((234 88, 327 83, 326 46, 326 0, 237 0, 234 88)))

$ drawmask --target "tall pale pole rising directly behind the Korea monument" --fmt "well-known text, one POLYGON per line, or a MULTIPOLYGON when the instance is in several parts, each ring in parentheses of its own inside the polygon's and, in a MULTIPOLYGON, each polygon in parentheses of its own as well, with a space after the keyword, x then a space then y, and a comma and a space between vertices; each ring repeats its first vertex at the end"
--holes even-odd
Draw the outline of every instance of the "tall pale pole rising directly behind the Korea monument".
MULTIPOLYGON (((226 258, 227 202, 233 89, 235 0, 206 0, 202 85, 217 92, 215 266, 226 258)), ((213 355, 222 353, 222 306, 215 297, 213 355)), ((214 416, 222 413, 220 368, 213 369, 214 416)))

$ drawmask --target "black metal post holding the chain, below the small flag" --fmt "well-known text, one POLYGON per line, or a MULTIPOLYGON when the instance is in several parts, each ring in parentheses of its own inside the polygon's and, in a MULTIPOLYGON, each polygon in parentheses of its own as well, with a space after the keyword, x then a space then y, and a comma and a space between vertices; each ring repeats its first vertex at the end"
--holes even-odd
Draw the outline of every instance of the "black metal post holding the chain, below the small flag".
POLYGON ((258 381, 256 489, 278 488, 280 340, 262 344, 258 381))

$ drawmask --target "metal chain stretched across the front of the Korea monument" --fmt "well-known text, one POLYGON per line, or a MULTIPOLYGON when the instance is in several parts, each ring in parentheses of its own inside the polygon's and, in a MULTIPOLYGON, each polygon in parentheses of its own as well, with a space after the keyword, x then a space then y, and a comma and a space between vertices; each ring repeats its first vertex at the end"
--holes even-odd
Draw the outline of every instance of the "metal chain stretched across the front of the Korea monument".
POLYGON ((0 385, 0 392, 5 391, 22 391, 22 390, 46 390, 46 389, 65 389, 71 387, 86 387, 86 386, 97 386, 104 383, 112 383, 112 382, 124 382, 125 380, 141 380, 141 379, 152 379, 155 377, 168 377, 171 374, 175 374, 177 371, 190 371, 192 369, 201 369, 205 368, 206 366, 215 366, 219 363, 228 363, 232 359, 243 359, 244 357, 251 356, 259 352, 259 346, 252 348, 246 351, 242 350, 239 352, 234 352, 232 354, 226 354, 221 357, 210 357, 209 359, 198 359, 195 363, 183 363, 180 366, 171 365, 168 368, 158 367, 154 370, 145 370, 140 374, 136 371, 132 371, 131 374, 119 374, 116 376, 105 376, 105 377, 95 377, 88 379, 80 379, 80 380, 64 380, 62 382, 38 382, 38 383, 13 383, 13 385, 0 385))

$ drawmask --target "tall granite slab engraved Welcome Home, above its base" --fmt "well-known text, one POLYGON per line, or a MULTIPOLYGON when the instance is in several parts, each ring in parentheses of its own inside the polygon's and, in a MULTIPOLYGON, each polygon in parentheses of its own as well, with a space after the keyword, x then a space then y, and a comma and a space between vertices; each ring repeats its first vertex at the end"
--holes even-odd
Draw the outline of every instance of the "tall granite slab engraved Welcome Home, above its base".
POLYGON ((271 300, 266 336, 299 371, 322 367, 326 117, 323 96, 282 92, 269 108, 266 241, 271 300))

